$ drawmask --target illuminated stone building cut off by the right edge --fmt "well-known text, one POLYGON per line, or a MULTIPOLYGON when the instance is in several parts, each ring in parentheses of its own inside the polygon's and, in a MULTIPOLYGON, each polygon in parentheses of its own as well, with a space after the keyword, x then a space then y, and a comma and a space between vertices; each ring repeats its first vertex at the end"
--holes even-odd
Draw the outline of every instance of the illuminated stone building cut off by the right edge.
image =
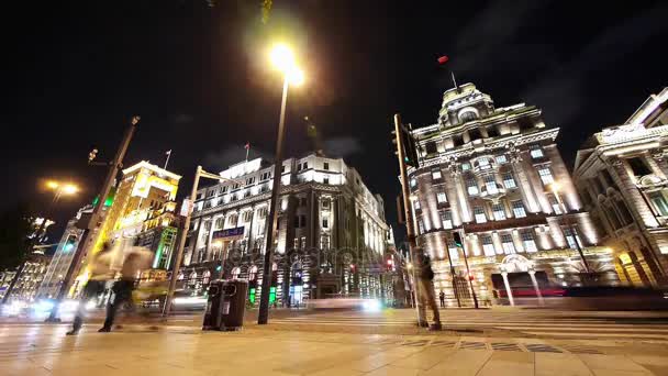
POLYGON ((578 152, 574 179, 624 283, 666 285, 668 88, 578 152))

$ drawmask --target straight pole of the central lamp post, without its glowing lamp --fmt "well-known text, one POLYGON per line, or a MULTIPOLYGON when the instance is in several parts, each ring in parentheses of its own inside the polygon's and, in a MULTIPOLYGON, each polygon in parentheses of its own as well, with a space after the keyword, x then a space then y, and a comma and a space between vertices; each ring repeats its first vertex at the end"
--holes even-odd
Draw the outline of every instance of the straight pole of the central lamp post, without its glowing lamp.
POLYGON ((274 270, 274 231, 278 222, 278 193, 282 175, 283 139, 286 136, 286 102, 288 100, 288 76, 283 77, 283 96, 280 102, 280 118, 278 121, 278 136, 276 139, 276 156, 274 158, 274 183, 271 185, 271 200, 269 201, 269 218, 267 218, 267 242, 265 245, 265 264, 263 268, 263 290, 259 298, 259 312, 257 323, 264 325, 269 320, 269 289, 271 288, 271 274, 274 270))

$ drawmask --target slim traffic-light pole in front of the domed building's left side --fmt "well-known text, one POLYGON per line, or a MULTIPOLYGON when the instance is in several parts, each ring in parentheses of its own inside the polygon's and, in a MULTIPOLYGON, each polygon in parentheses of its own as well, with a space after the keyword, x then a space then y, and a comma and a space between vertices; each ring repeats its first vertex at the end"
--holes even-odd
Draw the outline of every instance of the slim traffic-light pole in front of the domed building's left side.
MULTIPOLYGON (((403 196, 403 211, 405 218, 405 231, 409 237, 409 256, 411 262, 413 263, 413 268, 421 263, 417 262, 417 257, 415 254, 415 248, 417 247, 417 242, 415 241, 415 230, 413 229, 413 213, 411 212, 411 201, 410 201, 410 190, 409 190, 409 181, 408 181, 408 172, 405 167, 405 162, 403 159, 403 144, 401 142, 401 115, 399 113, 394 114, 394 136, 397 137, 397 157, 399 158, 399 170, 401 173, 401 193, 403 196)), ((414 272, 413 272, 414 273, 414 272)), ((414 280, 413 283, 415 289, 415 313, 417 314, 417 324, 422 324, 421 318, 426 317, 424 312, 424 307, 420 303, 420 283, 414 280)))

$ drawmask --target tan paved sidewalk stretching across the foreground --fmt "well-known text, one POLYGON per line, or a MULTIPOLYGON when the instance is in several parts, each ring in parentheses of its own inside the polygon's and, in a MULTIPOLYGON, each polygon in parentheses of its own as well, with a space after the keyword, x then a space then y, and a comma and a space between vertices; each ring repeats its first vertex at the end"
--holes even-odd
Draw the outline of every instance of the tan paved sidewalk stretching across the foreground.
POLYGON ((0 328, 0 375, 668 375, 665 345, 126 327, 0 328), (37 328, 37 329, 35 329, 37 328))

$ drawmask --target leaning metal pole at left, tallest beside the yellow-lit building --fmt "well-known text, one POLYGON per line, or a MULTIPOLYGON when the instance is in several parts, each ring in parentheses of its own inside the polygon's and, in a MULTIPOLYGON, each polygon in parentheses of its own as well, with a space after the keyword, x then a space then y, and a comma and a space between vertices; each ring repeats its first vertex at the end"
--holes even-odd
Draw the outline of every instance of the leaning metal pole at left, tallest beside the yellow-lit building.
POLYGON ((79 267, 81 266, 81 258, 88 252, 93 251, 93 246, 98 241, 98 236, 101 231, 99 231, 99 226, 102 224, 100 222, 100 217, 102 215, 102 211, 104 210, 104 201, 111 191, 111 187, 114 184, 116 175, 119 170, 123 167, 123 158, 125 157, 125 153, 127 152, 127 147, 130 146, 130 141, 134 135, 136 130, 136 125, 140 122, 140 117, 132 117, 130 122, 130 126, 125 131, 123 136, 123 141, 116 151, 116 155, 113 158, 113 162, 109 166, 109 172, 107 173, 107 177, 104 178, 104 184, 102 185, 102 189, 100 190, 100 196, 98 199, 98 204, 93 208, 92 213, 90 215, 90 220, 88 221, 88 226, 81 236, 81 241, 79 242, 79 246, 75 252, 75 255, 71 258, 71 264, 67 268, 67 274, 63 279, 63 284, 60 285, 60 289, 58 290, 58 295, 56 297, 56 301, 54 303, 54 308, 51 310, 51 314, 46 322, 60 322, 58 318, 58 310, 60 308, 60 302, 67 295, 67 290, 69 289, 69 285, 73 283, 75 275, 78 273, 79 267), (96 231, 98 229, 98 231, 96 231))

